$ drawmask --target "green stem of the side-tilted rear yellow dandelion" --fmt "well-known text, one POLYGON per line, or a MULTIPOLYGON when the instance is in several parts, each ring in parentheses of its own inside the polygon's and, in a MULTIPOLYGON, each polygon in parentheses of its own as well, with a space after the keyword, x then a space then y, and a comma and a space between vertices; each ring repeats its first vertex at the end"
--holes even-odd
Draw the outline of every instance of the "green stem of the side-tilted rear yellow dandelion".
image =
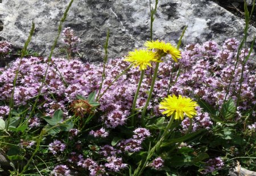
MULTIPOLYGON (((160 60, 160 58, 162 58, 162 56, 159 57, 159 60, 160 60)), ((154 76, 153 76, 152 82, 151 82, 150 92, 148 93, 146 105, 144 106, 143 111, 142 111, 142 115, 141 115, 141 125, 142 125, 142 127, 145 127, 145 119, 144 119, 144 116, 145 116, 145 114, 146 114, 147 106, 148 106, 148 104, 149 104, 149 102, 150 102, 150 99, 151 99, 151 96, 152 96, 152 92, 153 92, 153 90, 154 90, 156 76, 158 75, 158 67, 159 67, 159 62, 156 62, 155 71, 154 71, 154 76)))

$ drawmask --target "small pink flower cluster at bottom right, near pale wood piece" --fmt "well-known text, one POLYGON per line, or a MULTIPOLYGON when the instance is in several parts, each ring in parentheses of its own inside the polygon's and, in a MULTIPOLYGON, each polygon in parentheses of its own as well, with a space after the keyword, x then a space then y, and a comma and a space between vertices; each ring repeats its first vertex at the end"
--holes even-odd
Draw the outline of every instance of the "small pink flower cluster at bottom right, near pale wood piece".
POLYGON ((215 170, 220 170, 224 166, 224 162, 220 157, 209 159, 205 162, 206 166, 202 174, 212 173, 215 170))

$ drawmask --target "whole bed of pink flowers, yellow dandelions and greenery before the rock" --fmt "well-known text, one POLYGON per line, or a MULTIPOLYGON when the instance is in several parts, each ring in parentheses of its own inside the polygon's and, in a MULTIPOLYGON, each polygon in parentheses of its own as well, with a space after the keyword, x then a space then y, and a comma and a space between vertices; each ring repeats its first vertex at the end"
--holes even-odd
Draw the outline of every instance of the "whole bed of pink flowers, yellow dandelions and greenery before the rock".
POLYGON ((68 59, 24 57, 30 35, 22 57, 0 68, 9 174, 226 175, 236 160, 256 169, 252 46, 230 38, 181 51, 182 37, 177 47, 151 40, 108 61, 108 33, 96 65, 74 57, 80 40, 68 31, 68 59))

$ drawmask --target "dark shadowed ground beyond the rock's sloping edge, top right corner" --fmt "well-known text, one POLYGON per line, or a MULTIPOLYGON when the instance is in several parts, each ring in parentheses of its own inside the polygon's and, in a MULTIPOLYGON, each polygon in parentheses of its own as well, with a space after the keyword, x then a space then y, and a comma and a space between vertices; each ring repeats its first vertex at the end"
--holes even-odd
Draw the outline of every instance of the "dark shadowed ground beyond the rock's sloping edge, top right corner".
MULTIPOLYGON (((238 16, 239 18, 245 19, 244 15, 244 7, 243 2, 234 2, 229 0, 210 0, 212 2, 217 3, 221 7, 225 8, 226 10, 232 12, 232 14, 238 16)), ((249 12, 252 10, 252 6, 248 6, 249 12)), ((251 15, 250 24, 256 28, 256 9, 254 8, 253 15, 251 15)))

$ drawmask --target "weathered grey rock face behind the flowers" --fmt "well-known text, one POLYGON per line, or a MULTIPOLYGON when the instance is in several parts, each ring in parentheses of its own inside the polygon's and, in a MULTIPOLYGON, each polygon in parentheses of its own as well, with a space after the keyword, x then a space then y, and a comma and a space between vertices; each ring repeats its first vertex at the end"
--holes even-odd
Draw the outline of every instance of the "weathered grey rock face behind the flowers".
MULTIPOLYGON (((154 2, 154 1, 153 1, 154 2)), ((0 40, 22 47, 35 22, 30 49, 47 55, 57 33, 57 25, 69 1, 23 0, 0 3, 0 40)), ((154 4, 152 5, 154 6, 154 4)), ((243 36, 243 20, 209 0, 159 0, 154 22, 154 40, 175 44, 188 25, 183 44, 243 36)), ((84 61, 102 61, 106 31, 110 29, 109 58, 122 57, 143 46, 150 38, 149 2, 141 0, 75 0, 64 27, 71 27, 81 38, 84 61)), ((249 38, 256 33, 249 29, 249 38)), ((59 41, 55 56, 61 57, 59 41)), ((63 54, 62 54, 63 55, 63 54)))

